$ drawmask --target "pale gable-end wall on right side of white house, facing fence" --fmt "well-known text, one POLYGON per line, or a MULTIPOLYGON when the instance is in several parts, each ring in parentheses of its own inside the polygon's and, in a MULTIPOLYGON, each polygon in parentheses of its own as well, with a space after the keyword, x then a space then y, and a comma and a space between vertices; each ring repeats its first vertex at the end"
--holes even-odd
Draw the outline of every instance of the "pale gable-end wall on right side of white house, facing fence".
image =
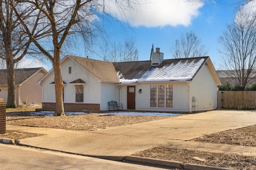
MULTIPOLYGON (((217 83, 207 65, 202 66, 190 83, 190 102, 192 97, 198 99, 198 110, 211 110, 217 107, 217 83)), ((190 104, 192 109, 192 104, 190 104)), ((192 111, 192 110, 191 110, 192 111)))

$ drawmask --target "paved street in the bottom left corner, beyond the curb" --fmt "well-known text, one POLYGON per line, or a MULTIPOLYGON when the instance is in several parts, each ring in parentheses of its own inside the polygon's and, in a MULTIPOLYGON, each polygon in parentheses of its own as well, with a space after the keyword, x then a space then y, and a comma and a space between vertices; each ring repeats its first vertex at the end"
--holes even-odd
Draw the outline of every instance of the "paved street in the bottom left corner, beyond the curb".
POLYGON ((87 156, 0 143, 0 169, 9 170, 163 170, 87 156))

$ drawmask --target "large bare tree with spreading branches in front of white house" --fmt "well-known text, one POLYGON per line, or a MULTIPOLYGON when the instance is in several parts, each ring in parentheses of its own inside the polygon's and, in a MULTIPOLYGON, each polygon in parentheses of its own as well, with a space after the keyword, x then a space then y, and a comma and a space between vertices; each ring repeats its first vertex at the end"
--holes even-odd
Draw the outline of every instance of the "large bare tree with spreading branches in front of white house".
MULTIPOLYGON (((64 105, 62 100, 63 80, 60 72, 60 53, 62 46, 65 43, 67 37, 72 35, 83 36, 86 42, 90 41, 90 37, 94 36, 94 29, 99 27, 94 22, 98 19, 96 14, 101 11, 106 15, 111 16, 111 13, 107 11, 107 6, 110 1, 93 1, 93 0, 17 0, 20 3, 32 4, 35 11, 42 12, 46 17, 42 22, 50 23, 51 29, 51 45, 52 51, 47 49, 43 41, 37 41, 31 29, 29 29, 27 23, 20 16, 20 12, 16 10, 16 14, 20 19, 20 22, 25 27, 28 36, 31 41, 40 49, 40 51, 46 55, 53 63, 54 69, 54 81, 55 81, 55 96, 56 96, 56 110, 54 116, 65 115, 64 105), (106 2, 105 2, 106 1, 106 2)), ((133 5, 138 5, 137 0, 116 0, 114 5, 124 12, 131 8, 133 5)), ((41 15, 40 15, 41 16, 41 15)), ((38 16, 37 16, 38 17, 38 16)), ((44 17, 43 17, 44 18, 44 17)), ((45 27, 42 29, 47 29, 45 27)))

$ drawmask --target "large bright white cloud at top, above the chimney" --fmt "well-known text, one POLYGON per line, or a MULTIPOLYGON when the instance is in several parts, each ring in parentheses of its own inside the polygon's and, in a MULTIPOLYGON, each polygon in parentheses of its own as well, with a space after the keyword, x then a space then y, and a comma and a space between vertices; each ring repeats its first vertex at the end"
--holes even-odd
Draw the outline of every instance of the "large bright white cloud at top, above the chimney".
POLYGON ((125 10, 125 15, 120 14, 120 9, 116 8, 115 4, 109 5, 109 10, 119 20, 127 19, 130 25, 135 27, 188 26, 191 20, 200 14, 198 10, 203 5, 202 2, 187 0, 150 0, 134 10, 125 10))

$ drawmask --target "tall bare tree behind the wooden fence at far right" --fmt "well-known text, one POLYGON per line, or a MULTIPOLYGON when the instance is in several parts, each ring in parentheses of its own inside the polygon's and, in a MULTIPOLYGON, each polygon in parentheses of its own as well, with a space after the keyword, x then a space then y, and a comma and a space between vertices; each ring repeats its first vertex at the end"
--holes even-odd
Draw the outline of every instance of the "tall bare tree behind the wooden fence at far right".
POLYGON ((244 87, 256 78, 256 14, 241 10, 219 37, 224 68, 235 84, 244 87))

